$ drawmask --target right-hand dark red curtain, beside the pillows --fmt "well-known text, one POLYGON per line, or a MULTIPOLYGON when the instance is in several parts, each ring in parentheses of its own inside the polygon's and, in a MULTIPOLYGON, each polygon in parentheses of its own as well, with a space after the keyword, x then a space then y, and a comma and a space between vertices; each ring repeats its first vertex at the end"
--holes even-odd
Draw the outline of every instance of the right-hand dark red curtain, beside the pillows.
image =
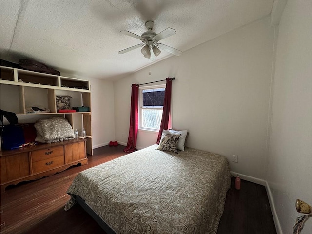
POLYGON ((164 107, 163 107, 163 111, 162 111, 162 118, 161 118, 161 123, 160 123, 160 128, 159 128, 159 133, 158 133, 156 144, 159 144, 161 134, 162 134, 162 130, 168 129, 170 104, 171 104, 171 86, 172 86, 172 79, 166 78, 166 91, 165 91, 165 98, 164 98, 164 107))

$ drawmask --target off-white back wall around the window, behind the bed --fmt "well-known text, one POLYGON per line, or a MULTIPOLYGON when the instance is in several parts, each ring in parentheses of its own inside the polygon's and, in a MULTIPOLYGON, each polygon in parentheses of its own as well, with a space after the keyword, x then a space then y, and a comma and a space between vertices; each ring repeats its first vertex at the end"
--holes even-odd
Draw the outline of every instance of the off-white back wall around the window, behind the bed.
MULTIPOLYGON (((232 171, 264 179, 272 54, 267 17, 156 63, 151 76, 146 68, 114 82, 116 139, 127 142, 131 84, 176 77, 172 123, 189 131, 187 146, 227 156, 232 171)), ((138 148, 155 142, 155 134, 139 132, 138 148)))

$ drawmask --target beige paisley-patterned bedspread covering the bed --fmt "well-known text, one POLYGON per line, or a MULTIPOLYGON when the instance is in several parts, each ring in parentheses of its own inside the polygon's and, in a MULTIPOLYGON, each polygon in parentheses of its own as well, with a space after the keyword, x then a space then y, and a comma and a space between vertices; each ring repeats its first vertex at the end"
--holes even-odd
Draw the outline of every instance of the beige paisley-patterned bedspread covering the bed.
POLYGON ((67 193, 82 197, 117 234, 215 234, 230 187, 228 160, 157 147, 79 173, 67 193))

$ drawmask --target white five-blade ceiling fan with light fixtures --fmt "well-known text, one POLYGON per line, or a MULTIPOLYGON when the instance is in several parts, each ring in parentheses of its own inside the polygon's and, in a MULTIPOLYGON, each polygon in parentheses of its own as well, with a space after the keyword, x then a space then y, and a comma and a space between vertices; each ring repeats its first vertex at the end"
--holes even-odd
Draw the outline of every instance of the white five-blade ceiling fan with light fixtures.
POLYGON ((155 57, 160 54, 160 49, 165 50, 173 55, 179 56, 182 54, 182 51, 179 51, 173 47, 170 47, 165 44, 159 43, 159 40, 168 38, 174 34, 176 34, 176 30, 173 28, 166 28, 162 32, 156 34, 153 32, 154 22, 153 21, 147 21, 145 23, 145 26, 148 31, 144 32, 141 36, 134 34, 129 31, 120 31, 120 33, 128 35, 130 37, 136 38, 141 40, 143 43, 129 47, 127 49, 121 50, 118 53, 124 54, 129 51, 132 51, 134 49, 137 49, 139 47, 143 48, 141 49, 141 53, 144 55, 145 58, 151 59, 151 61, 155 60, 155 57))

